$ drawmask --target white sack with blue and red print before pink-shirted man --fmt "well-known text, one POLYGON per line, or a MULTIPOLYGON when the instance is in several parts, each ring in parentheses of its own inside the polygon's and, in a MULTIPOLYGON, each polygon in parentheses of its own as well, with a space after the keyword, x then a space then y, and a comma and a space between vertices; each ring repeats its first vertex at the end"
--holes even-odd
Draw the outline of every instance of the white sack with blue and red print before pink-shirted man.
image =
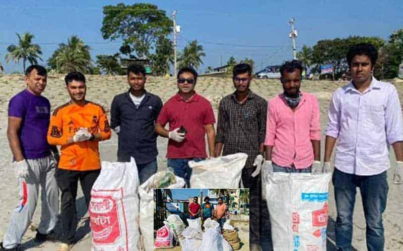
POLYGON ((327 199, 331 173, 268 176, 267 207, 276 251, 326 250, 327 199), (282 191, 279 193, 279 191, 282 191))

